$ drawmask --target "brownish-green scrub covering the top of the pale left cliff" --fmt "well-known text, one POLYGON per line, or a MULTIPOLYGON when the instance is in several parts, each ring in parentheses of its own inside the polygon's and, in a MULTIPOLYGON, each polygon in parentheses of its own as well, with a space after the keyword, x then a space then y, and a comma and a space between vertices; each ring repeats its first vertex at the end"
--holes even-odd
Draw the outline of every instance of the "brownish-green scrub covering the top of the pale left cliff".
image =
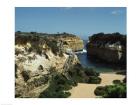
MULTIPOLYGON (((55 55, 63 57, 63 51, 59 51, 58 41, 61 38, 66 37, 76 37, 75 35, 69 33, 58 33, 58 34, 47 34, 47 33, 37 33, 37 32, 21 32, 17 31, 15 33, 16 40, 15 44, 17 45, 26 45, 27 43, 31 44, 31 47, 27 49, 30 53, 32 51, 37 52, 39 55, 42 55, 42 50, 51 49, 55 55), (46 48, 43 48, 43 45, 46 45, 46 48)), ((19 52, 16 51, 16 54, 19 52)))

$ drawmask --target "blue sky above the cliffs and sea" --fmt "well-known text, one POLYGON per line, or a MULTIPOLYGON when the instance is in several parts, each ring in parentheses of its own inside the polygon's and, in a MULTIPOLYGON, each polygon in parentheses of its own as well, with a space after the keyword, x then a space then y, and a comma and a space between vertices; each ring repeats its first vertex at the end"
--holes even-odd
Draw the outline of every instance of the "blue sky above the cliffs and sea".
POLYGON ((125 7, 16 7, 15 31, 126 34, 125 7))

